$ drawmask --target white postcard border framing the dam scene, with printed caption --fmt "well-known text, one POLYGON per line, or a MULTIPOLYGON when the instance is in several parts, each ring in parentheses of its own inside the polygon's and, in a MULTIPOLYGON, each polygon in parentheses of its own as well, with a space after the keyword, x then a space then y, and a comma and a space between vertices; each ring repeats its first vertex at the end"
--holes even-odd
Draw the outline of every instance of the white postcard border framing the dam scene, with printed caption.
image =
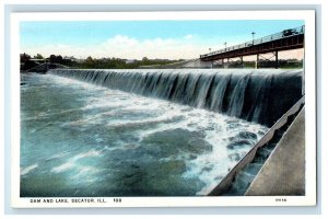
POLYGON ((316 205, 316 50, 315 11, 192 11, 192 12, 48 12, 11 14, 11 193, 15 208, 189 207, 189 206, 313 206, 316 205), (237 197, 20 197, 20 22, 22 21, 141 21, 141 20, 304 20, 305 21, 305 196, 237 197), (94 199, 94 203, 87 200, 94 199), (67 199, 68 203, 58 203, 67 199), (73 199, 75 203, 73 203, 73 199), (85 201, 83 201, 85 200, 85 201), (284 201, 281 201, 284 200, 284 201), (83 203, 81 203, 83 201, 83 203))

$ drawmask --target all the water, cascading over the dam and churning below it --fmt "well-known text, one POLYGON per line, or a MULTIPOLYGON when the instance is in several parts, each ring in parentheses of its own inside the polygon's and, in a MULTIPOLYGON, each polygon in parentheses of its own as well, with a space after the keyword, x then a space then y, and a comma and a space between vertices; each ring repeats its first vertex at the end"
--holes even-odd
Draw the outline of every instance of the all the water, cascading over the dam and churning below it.
POLYGON ((22 197, 209 195, 303 96, 302 70, 52 69, 22 80, 22 197))

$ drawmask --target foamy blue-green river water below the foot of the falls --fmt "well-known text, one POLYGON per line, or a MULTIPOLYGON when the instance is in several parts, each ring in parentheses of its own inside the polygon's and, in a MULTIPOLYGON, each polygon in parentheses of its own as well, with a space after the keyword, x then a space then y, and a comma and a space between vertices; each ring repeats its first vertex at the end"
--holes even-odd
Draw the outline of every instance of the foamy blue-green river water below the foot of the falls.
POLYGON ((207 195, 268 130, 54 74, 22 82, 22 197, 207 195))

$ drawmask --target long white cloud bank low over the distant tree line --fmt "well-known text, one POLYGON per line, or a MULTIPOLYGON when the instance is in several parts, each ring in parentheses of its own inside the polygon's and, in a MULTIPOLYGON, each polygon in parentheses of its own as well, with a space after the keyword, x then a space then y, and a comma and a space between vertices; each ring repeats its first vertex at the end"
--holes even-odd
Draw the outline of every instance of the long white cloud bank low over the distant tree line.
POLYGON ((127 59, 167 58, 167 59, 189 59, 197 58, 206 53, 209 45, 203 45, 192 38, 192 35, 186 35, 181 38, 148 38, 137 39, 126 35, 115 35, 104 42, 94 45, 63 45, 48 44, 39 47, 23 47, 21 51, 31 55, 42 54, 49 56, 51 54, 62 56, 74 56, 85 58, 92 56, 117 57, 127 59))

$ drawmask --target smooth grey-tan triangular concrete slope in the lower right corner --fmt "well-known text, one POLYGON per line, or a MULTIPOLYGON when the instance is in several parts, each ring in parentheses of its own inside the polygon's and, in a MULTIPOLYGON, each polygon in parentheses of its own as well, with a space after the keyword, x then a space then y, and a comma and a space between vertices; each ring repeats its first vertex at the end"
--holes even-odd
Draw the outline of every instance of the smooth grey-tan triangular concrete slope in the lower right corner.
POLYGON ((277 145, 245 195, 305 195, 304 107, 277 145))

